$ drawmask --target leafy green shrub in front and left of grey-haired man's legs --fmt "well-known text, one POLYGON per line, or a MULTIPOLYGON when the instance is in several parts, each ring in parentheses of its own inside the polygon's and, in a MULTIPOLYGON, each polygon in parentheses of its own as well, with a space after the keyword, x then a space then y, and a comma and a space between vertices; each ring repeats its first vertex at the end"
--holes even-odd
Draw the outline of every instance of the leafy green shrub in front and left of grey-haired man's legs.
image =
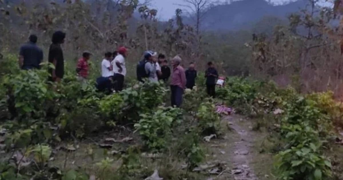
POLYGON ((141 114, 141 119, 134 127, 142 136, 145 145, 154 151, 165 147, 171 135, 172 123, 179 117, 179 109, 158 108, 154 112, 141 114))

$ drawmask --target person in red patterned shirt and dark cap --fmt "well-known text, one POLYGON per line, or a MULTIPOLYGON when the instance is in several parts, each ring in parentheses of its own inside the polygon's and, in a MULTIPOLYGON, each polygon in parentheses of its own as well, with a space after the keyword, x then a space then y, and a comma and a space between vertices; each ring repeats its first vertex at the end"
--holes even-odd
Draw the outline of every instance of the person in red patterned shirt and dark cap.
POLYGON ((78 65, 76 65, 76 73, 78 73, 78 80, 85 82, 89 74, 88 60, 91 59, 92 53, 84 51, 82 53, 82 58, 78 60, 78 65))

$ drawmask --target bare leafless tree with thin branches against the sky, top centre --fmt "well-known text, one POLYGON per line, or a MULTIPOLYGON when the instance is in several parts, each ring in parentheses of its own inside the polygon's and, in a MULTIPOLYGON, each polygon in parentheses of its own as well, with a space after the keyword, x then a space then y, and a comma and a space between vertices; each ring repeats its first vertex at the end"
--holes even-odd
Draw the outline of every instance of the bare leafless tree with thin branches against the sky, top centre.
POLYGON ((180 7, 188 9, 190 16, 195 17, 196 33, 200 34, 201 20, 205 15, 206 8, 210 5, 212 0, 183 0, 185 4, 178 4, 180 7))

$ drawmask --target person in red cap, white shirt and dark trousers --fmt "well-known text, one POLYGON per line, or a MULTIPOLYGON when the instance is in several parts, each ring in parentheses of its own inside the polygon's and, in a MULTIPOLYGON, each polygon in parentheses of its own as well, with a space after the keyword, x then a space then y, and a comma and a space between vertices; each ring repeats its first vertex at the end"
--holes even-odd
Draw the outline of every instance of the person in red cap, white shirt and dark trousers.
POLYGON ((126 75, 125 58, 127 56, 127 49, 120 47, 118 55, 111 62, 113 67, 114 79, 116 80, 115 91, 122 91, 124 87, 124 79, 126 75))

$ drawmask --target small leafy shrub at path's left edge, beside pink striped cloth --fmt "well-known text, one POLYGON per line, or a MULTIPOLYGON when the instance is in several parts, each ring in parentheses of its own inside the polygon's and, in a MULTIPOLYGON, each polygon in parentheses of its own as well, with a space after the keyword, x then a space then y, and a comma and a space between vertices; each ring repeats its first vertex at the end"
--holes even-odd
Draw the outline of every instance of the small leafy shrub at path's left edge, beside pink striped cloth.
POLYGON ((220 133, 220 115, 210 99, 200 104, 197 118, 202 133, 208 135, 220 133))

